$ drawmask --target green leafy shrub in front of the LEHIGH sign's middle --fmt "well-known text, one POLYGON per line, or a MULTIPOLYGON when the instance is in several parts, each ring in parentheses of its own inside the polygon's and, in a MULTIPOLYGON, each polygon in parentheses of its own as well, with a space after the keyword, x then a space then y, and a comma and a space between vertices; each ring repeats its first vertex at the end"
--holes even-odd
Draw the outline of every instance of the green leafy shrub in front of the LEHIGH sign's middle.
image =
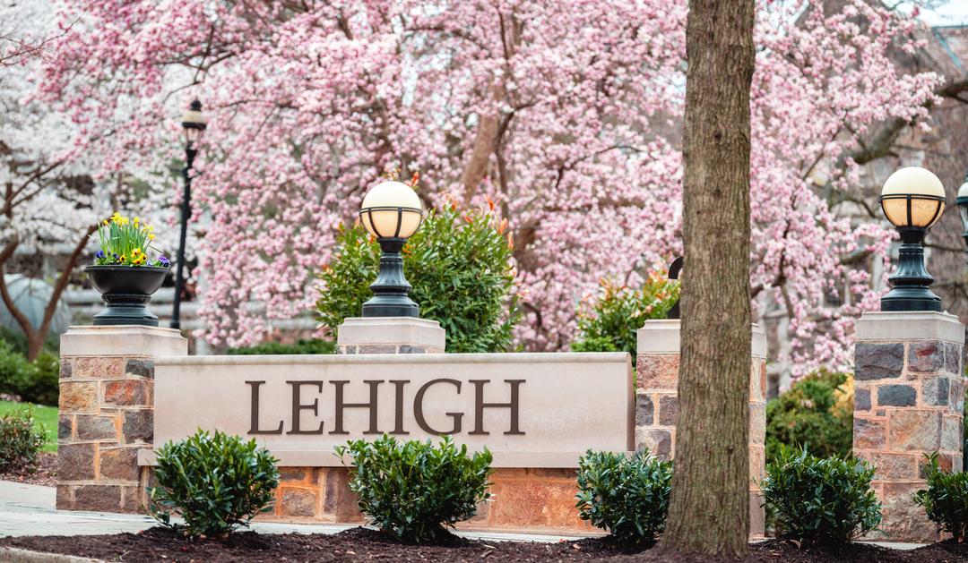
POLYGON ((384 434, 373 442, 353 440, 336 449, 349 454, 349 489, 360 511, 379 529, 404 542, 434 541, 445 526, 473 517, 487 500, 491 452, 458 448, 450 436, 439 446, 384 434))

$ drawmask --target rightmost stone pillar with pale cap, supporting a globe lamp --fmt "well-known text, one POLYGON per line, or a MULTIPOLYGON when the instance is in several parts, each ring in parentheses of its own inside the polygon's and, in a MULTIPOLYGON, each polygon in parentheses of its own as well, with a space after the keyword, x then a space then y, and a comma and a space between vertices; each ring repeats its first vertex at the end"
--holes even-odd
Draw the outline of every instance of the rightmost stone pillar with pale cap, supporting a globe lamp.
POLYGON ((961 470, 964 326, 941 312, 865 312, 857 322, 854 455, 876 467, 881 530, 891 542, 937 541, 911 495, 924 487, 924 455, 961 470))

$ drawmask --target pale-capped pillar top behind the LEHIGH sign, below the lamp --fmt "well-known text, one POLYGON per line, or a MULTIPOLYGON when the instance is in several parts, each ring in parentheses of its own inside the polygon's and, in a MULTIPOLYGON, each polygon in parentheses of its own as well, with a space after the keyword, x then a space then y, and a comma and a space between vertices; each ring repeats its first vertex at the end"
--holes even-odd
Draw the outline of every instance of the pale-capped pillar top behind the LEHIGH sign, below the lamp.
POLYGON ((412 316, 353 316, 337 330, 340 346, 394 345, 443 350, 446 332, 440 323, 412 316))

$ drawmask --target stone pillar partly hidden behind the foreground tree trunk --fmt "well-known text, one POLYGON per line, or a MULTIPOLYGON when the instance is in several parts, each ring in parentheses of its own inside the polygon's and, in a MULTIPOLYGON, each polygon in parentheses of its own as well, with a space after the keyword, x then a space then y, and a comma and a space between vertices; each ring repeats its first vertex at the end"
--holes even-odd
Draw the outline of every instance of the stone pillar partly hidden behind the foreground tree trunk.
MULTIPOLYGON (((765 512, 756 482, 766 473, 767 337, 753 325, 749 377, 749 514, 751 537, 763 537, 765 512), (755 480, 755 482, 754 482, 755 480)), ((679 411, 680 320, 648 320, 638 331, 635 447, 673 459, 679 411)))

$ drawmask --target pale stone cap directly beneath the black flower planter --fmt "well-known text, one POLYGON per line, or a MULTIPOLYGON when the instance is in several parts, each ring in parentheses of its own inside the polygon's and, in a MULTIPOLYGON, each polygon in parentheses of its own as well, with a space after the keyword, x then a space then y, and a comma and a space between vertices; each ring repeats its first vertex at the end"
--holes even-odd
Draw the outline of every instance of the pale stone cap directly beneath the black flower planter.
POLYGON ((135 324, 72 326, 61 335, 61 356, 187 356, 175 329, 135 324))

